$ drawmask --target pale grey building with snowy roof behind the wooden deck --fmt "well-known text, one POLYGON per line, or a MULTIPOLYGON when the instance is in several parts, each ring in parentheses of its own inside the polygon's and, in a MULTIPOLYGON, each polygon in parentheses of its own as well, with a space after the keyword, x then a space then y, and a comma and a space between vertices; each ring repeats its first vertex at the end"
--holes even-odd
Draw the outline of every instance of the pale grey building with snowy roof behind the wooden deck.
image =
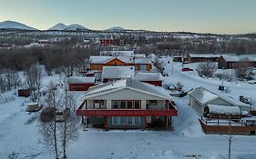
POLYGON ((209 105, 238 106, 241 111, 250 112, 250 105, 243 104, 239 100, 214 94, 204 87, 193 89, 189 94, 189 105, 195 108, 199 114, 205 113, 205 107, 209 105))

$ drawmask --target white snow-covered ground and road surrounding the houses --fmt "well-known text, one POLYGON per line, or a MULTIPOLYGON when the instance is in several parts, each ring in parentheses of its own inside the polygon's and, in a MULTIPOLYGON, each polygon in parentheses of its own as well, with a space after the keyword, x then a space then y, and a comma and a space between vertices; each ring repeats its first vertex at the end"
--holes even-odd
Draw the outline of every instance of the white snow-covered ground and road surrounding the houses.
MULTIPOLYGON (((185 90, 204 86, 217 94, 238 98, 239 95, 256 97, 256 85, 234 81, 224 81, 230 87, 230 93, 221 93, 217 79, 204 79, 195 71, 181 72, 182 65, 166 63, 169 76, 164 77, 164 84, 184 84, 185 90)), ((189 65, 195 68, 196 64, 189 65)), ((194 69, 195 70, 195 69, 194 69)), ((45 83, 51 79, 47 77, 45 83)), ((77 94, 78 95, 78 94, 77 94)), ((76 141, 67 146, 68 158, 147 158, 147 159, 179 159, 189 158, 186 155, 196 154, 197 158, 224 159, 228 155, 228 140, 224 134, 203 134, 198 118, 200 117, 189 107, 189 97, 174 98, 179 116, 173 117, 173 131, 123 131, 89 128, 83 131, 81 126, 76 141)), ((0 158, 15 153, 18 158, 54 158, 53 149, 41 144, 42 134, 38 113, 27 114, 28 98, 17 97, 15 90, 0 96, 0 158), (4 101, 3 99, 7 99, 4 101), (2 99, 2 100, 1 100, 2 99)), ((231 158, 253 159, 256 156, 256 136, 235 135, 231 144, 231 158)), ((191 158, 191 157, 190 157, 191 158)))

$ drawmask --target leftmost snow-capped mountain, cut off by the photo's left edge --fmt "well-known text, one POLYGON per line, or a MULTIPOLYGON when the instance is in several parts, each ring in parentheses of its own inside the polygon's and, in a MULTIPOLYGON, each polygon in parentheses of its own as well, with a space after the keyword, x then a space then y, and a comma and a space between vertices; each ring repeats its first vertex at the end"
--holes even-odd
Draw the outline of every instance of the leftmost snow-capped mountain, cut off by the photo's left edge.
POLYGON ((15 21, 0 22, 0 29, 23 29, 23 30, 37 30, 36 28, 24 25, 15 21))

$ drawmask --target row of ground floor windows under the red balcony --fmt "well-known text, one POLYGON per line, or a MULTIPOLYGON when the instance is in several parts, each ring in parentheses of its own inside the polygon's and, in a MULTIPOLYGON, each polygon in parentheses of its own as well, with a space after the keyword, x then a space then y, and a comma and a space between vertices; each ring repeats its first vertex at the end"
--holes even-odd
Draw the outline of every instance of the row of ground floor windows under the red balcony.
POLYGON ((113 116, 112 124, 140 124, 140 116, 113 116))

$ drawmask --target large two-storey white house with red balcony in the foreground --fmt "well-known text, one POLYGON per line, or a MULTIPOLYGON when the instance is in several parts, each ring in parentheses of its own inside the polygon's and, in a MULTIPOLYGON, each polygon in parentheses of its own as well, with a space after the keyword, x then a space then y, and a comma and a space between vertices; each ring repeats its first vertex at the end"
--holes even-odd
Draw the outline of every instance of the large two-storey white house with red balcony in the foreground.
POLYGON ((85 124, 108 128, 146 129, 171 125, 177 110, 168 92, 162 87, 122 79, 90 87, 77 109, 85 124))

